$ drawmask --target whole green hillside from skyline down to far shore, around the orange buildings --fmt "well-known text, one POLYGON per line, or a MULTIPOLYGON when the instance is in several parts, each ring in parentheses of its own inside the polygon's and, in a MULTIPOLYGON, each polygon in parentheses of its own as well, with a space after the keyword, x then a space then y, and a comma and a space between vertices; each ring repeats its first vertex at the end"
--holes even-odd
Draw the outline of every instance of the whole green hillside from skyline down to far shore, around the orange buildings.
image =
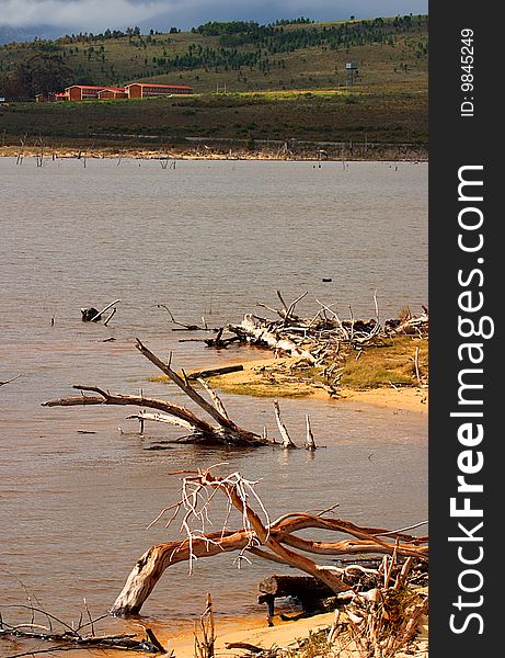
POLYGON ((0 47, 0 95, 8 100, 32 101, 71 83, 138 80, 188 84, 195 95, 9 103, 0 107, 3 143, 28 135, 114 144, 184 137, 426 144, 427 16, 207 23, 184 33, 131 29, 0 47), (352 86, 349 61, 358 67, 352 86))

